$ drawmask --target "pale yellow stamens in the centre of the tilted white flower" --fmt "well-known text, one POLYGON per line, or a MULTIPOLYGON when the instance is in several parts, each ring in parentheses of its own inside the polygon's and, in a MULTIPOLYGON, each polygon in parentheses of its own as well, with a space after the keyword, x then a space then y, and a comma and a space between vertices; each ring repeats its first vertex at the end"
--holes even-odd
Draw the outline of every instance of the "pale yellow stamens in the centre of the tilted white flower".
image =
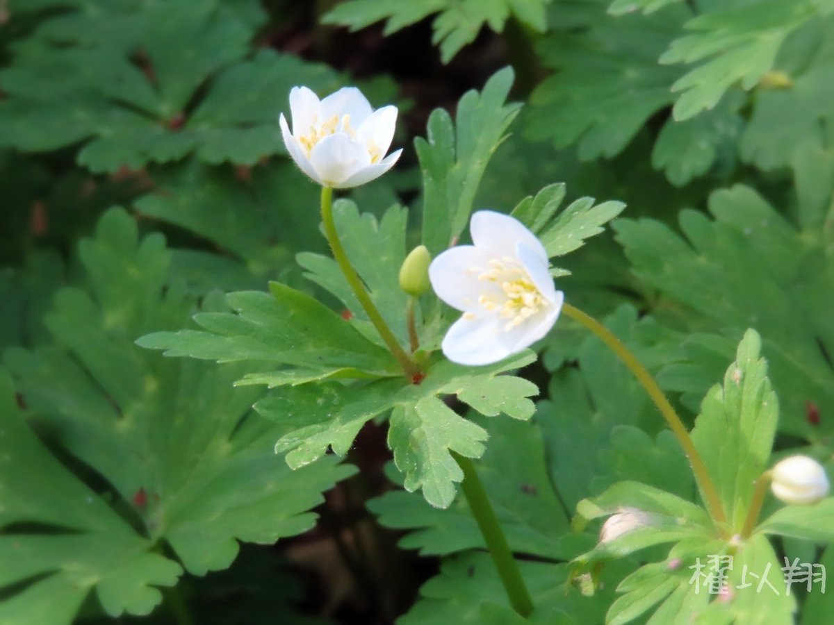
POLYGON ((550 302, 530 279, 530 274, 515 258, 493 258, 489 264, 490 268, 481 273, 478 279, 497 284, 502 293, 485 293, 478 298, 478 303, 486 310, 497 311, 500 318, 508 320, 504 326, 505 332, 524 323, 525 319, 542 308, 550 306, 550 302))

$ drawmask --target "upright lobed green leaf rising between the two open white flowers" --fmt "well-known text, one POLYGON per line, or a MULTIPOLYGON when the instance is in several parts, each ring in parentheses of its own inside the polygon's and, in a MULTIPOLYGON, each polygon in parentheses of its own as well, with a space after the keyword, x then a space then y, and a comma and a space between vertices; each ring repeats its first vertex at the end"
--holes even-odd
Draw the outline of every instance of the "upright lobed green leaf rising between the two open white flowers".
POLYGON ((510 67, 496 72, 482 92, 466 92, 457 122, 435 109, 427 138, 414 139, 423 170, 423 244, 436 255, 460 236, 490 157, 505 138, 519 104, 505 104, 513 82, 510 67))

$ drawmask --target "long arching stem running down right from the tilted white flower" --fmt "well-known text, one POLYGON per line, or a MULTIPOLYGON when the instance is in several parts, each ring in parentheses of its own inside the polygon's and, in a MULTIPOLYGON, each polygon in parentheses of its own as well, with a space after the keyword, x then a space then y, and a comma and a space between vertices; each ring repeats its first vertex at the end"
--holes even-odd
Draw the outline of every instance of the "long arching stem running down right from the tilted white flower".
POLYGON ((625 363, 625 366, 631 370, 631 373, 634 374, 637 381, 646 389, 646 393, 649 393, 651 401, 661 411, 672 433, 675 434, 678 443, 681 444, 681 448, 686 453, 686 458, 689 458, 692 473, 695 473, 696 482, 701 488, 701 493, 704 495, 712 518, 718 523, 726 523, 726 514, 724 507, 721 505, 721 498, 718 496, 718 491, 712 483, 709 472, 706 470, 704 461, 701 460, 701 454, 698 453, 695 443, 692 443, 689 432, 687 432, 686 426, 684 426, 681 418, 675 412, 675 408, 672 408, 671 403, 666 399, 666 395, 663 394, 663 391, 661 391, 661 388, 655 382, 655 378, 651 377, 651 373, 646 371, 646 368, 641 365, 640 361, 631 353, 629 348, 626 348, 620 339, 615 337, 614 333, 611 333, 608 328, 605 328, 595 318, 587 313, 583 313, 579 308, 575 308, 568 303, 562 306, 562 312, 581 323, 585 328, 588 328, 599 337, 625 363))

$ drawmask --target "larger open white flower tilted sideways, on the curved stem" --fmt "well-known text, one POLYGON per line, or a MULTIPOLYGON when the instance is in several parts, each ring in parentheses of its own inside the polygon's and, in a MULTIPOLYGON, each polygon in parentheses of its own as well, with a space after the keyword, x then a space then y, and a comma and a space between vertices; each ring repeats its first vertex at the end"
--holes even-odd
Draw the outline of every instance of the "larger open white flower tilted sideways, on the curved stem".
POLYGON ((438 297, 462 311, 443 339, 453 363, 485 365, 530 347, 559 317, 547 253, 517 219, 493 211, 472 215, 474 245, 441 253, 429 268, 438 297))

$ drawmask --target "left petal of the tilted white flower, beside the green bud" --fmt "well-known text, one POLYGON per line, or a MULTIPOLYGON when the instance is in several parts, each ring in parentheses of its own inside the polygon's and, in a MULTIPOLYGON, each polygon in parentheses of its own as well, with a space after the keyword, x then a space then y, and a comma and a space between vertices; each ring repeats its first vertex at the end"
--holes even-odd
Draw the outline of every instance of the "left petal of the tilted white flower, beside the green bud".
POLYGON ((478 298, 485 293, 501 295, 495 283, 479 280, 489 268, 492 254, 474 245, 447 249, 429 265, 429 280, 438 298, 461 311, 481 310, 478 298))

